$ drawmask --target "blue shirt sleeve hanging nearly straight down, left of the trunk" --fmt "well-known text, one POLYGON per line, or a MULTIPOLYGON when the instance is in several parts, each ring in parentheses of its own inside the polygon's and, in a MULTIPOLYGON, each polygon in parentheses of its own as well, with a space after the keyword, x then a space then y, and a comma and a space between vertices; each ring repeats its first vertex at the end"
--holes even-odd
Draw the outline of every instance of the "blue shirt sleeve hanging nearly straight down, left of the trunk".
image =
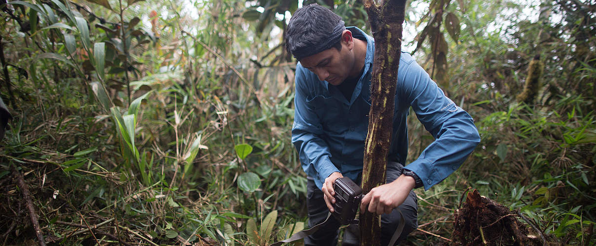
POLYGON ((325 178, 339 169, 331 163, 331 153, 324 140, 321 121, 316 115, 313 103, 309 103, 308 80, 304 68, 296 66, 296 96, 294 97, 294 124, 292 125, 292 143, 300 156, 302 168, 308 176, 315 179, 319 189, 325 178))

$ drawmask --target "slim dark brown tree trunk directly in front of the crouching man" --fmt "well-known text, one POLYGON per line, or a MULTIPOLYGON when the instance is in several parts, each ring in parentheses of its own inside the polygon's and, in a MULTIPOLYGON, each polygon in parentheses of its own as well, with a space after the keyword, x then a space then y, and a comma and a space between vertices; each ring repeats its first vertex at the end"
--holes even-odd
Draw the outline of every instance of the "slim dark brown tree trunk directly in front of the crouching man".
MULTIPOLYGON (((406 1, 386 1, 379 5, 373 0, 364 2, 375 39, 371 81, 372 106, 368 114, 368 135, 364 145, 362 171, 364 193, 385 182, 387 154, 393 133, 393 109, 406 1)), ((380 216, 366 210, 360 212, 360 238, 360 245, 381 245, 380 216)))

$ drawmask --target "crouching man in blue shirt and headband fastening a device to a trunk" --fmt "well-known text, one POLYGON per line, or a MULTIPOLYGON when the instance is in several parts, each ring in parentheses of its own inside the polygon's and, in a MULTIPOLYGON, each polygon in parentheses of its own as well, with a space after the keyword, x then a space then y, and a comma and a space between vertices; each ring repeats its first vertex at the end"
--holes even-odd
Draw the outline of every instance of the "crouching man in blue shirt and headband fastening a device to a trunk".
MULTIPOLYGON (((296 65, 292 143, 308 175, 309 225, 333 212, 333 184, 347 176, 360 184, 364 141, 370 110, 374 39, 342 18, 313 4, 297 10, 286 30, 286 48, 296 65)), ((413 189, 428 190, 454 172, 480 141, 473 119, 445 96, 411 55, 399 64, 392 146, 387 156, 387 183, 362 198, 361 209, 382 214, 381 243, 387 245, 399 225, 398 241, 417 228, 413 189), (417 160, 403 168, 408 153, 406 116, 409 107, 433 135, 417 160)), ((305 245, 335 245, 339 222, 305 238, 305 245)), ((357 245, 358 231, 346 230, 343 245, 357 245)))

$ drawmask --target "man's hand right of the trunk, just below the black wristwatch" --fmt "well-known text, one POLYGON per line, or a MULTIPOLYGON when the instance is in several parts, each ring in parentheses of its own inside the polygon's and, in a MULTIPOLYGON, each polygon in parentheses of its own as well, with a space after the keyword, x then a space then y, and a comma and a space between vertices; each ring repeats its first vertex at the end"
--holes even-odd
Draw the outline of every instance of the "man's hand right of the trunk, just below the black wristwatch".
POLYGON ((377 215, 389 214, 406 200, 415 185, 414 178, 402 174, 389 184, 373 188, 362 198, 360 210, 363 211, 368 207, 368 212, 377 213, 377 215))

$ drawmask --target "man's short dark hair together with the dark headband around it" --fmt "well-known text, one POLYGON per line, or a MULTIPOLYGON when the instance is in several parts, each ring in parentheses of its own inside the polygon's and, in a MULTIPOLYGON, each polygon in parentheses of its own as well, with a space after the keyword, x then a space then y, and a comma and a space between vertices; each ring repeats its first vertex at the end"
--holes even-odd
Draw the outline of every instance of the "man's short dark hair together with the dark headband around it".
MULTIPOLYGON (((318 4, 306 5, 294 12, 285 30, 285 49, 292 55, 309 46, 325 42, 328 35, 342 21, 342 17, 318 4)), ((341 51, 341 39, 333 45, 341 51)))

